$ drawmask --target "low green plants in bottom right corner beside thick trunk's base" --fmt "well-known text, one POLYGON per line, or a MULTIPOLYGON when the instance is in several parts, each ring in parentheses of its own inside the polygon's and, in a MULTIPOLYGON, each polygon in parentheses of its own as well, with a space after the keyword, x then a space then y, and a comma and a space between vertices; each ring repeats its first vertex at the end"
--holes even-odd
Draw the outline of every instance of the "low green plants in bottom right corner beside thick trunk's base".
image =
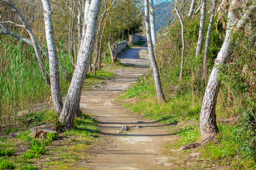
POLYGON ((204 158, 210 160, 229 160, 238 169, 255 168, 255 137, 251 139, 253 131, 245 129, 243 124, 218 125, 220 134, 202 150, 204 158), (254 141, 247 143, 245 141, 254 141), (253 147, 254 149, 252 149, 253 147), (241 160, 243 160, 241 162, 241 160))

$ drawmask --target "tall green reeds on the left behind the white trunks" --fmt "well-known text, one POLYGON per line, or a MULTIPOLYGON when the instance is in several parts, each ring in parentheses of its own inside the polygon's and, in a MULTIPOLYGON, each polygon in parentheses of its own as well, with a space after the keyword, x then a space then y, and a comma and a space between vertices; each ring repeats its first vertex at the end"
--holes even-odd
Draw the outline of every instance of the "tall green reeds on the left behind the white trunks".
MULTIPOLYGON (((49 100, 50 88, 44 82, 31 46, 15 43, 11 37, 0 39, 0 129, 18 128, 22 114, 33 110, 36 102, 49 100)), ((72 63, 59 50, 61 90, 67 91, 72 63), (62 55, 62 56, 60 56, 62 55)), ((48 69, 48 59, 44 59, 48 69)), ((49 73, 49 71, 48 71, 49 73)))

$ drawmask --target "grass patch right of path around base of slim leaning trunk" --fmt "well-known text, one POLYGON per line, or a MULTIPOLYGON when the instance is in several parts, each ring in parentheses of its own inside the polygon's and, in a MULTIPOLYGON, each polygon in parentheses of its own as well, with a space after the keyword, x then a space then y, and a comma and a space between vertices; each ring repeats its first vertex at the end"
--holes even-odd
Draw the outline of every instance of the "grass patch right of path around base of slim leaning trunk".
POLYGON ((128 103, 126 106, 133 112, 142 113, 154 120, 162 120, 165 124, 183 120, 183 117, 185 120, 199 118, 201 109, 199 97, 194 96, 193 100, 196 102, 193 102, 192 96, 187 94, 173 97, 167 100, 166 104, 161 104, 155 95, 154 83, 142 81, 125 91, 123 98, 139 98, 136 103, 128 103))

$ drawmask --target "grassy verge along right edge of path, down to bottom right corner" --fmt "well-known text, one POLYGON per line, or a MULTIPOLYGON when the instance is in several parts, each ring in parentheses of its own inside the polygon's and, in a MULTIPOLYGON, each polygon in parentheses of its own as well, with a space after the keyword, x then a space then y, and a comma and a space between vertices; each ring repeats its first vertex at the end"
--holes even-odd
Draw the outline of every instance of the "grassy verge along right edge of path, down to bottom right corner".
MULTIPOLYGON (((139 80, 139 83, 123 92, 118 100, 123 101, 123 103, 128 100, 129 103, 126 103, 125 106, 135 113, 170 125, 168 129, 175 133, 177 138, 169 142, 166 148, 168 154, 174 154, 171 150, 201 141, 199 118, 202 99, 203 96, 187 93, 169 96, 166 104, 160 104, 156 99, 154 82, 139 80), (131 99, 133 99, 132 103, 130 103, 131 99), (189 121, 193 119, 195 121, 189 121)), ((203 154, 200 159, 209 164, 217 163, 234 169, 256 168, 256 152, 253 149, 255 139, 251 138, 254 131, 253 129, 246 129, 242 118, 238 122, 218 124, 220 134, 217 135, 216 139, 195 151, 203 154)), ((181 154, 191 151, 181 151, 181 154)))

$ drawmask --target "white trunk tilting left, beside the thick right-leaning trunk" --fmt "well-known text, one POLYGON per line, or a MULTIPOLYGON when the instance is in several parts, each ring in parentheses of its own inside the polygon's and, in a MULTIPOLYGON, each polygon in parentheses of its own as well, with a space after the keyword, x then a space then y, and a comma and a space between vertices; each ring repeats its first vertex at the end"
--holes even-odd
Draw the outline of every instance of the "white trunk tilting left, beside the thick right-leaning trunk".
POLYGON ((52 104, 55 113, 59 116, 63 107, 61 92, 60 92, 60 76, 59 76, 59 63, 57 58, 57 51, 53 35, 53 24, 52 24, 52 11, 51 5, 48 0, 42 0, 44 8, 44 23, 46 28, 46 41, 48 46, 49 56, 49 71, 51 78, 51 93, 52 93, 52 104))

